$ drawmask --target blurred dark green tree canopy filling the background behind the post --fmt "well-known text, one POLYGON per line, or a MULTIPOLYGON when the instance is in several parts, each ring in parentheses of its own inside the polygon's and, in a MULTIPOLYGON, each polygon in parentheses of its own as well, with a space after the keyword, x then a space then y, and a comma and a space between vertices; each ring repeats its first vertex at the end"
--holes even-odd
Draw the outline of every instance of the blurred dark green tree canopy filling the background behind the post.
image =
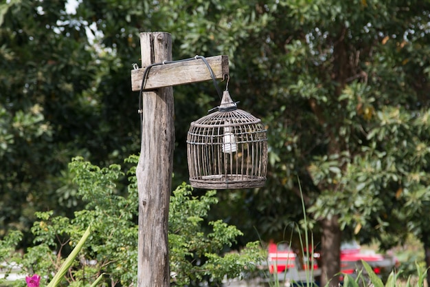
MULTIPOLYGON (((79 205, 72 156, 104 165, 139 152, 130 70, 139 32, 167 31, 174 59, 227 54, 231 96, 268 127, 267 185, 218 193, 212 210, 244 242, 253 228, 280 240, 303 217, 299 180, 328 277, 342 237, 389 248, 413 232, 430 251, 430 3, 82 0, 73 13, 65 4, 0 6, 3 233, 28 228, 36 210, 79 205)), ((190 122, 218 103, 210 83, 175 87, 174 98, 178 184, 190 122)))

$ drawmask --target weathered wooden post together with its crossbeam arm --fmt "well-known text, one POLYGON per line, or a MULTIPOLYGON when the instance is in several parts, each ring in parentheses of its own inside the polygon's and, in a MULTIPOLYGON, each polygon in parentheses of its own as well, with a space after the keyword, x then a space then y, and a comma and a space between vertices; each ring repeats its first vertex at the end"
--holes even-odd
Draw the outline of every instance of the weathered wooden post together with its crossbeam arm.
MULTIPOLYGON (((145 67, 172 61, 172 37, 166 32, 140 34, 142 69, 131 71, 133 91, 139 91, 145 67)), ((227 56, 212 56, 207 63, 216 78, 229 74, 227 56)), ((142 146, 137 164, 139 242, 137 286, 170 286, 168 213, 173 171, 173 85, 208 81, 212 76, 201 59, 154 66, 142 98, 142 146)))

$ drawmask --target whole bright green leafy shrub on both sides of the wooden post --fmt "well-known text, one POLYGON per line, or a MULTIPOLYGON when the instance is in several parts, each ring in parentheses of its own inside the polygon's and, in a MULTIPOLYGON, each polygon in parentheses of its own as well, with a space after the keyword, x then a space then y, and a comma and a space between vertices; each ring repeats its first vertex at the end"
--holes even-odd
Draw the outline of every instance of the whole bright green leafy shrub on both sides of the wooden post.
MULTIPOLYGON (((131 156, 127 161, 135 163, 137 157, 131 156)), ((26 274, 41 275, 42 285, 51 282, 52 286, 82 286, 85 282, 97 281, 123 286, 136 284, 135 168, 128 171, 131 183, 127 196, 117 194, 116 182, 123 173, 116 164, 100 168, 82 158, 73 158, 69 168, 75 176, 80 197, 87 202, 86 209, 76 211, 73 218, 54 215, 52 211, 37 213, 39 221, 32 227, 34 246, 28 248, 21 259, 15 259, 26 274), (89 224, 91 233, 87 229, 81 237, 89 224), (67 255, 69 257, 64 259, 67 255), (73 260, 75 257, 77 259, 73 260), (53 274, 57 275, 52 277, 53 274)), ((200 198, 192 196, 192 189, 186 184, 173 191, 169 244, 175 286, 196 286, 205 281, 240 277, 255 270, 262 260, 264 253, 258 242, 247 244, 240 253, 224 254, 242 233, 220 220, 205 220, 210 206, 217 202, 215 194, 215 191, 208 191, 200 198)), ((19 240, 19 233, 10 233, 0 241, 1 258, 8 259, 19 240)), ((25 282, 15 283, 23 286, 25 282)))

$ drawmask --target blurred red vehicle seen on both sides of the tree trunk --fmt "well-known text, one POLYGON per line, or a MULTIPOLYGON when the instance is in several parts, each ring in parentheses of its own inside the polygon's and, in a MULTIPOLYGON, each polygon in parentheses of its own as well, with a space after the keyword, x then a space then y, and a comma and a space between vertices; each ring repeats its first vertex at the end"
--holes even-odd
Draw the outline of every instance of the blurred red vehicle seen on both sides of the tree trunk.
MULTIPOLYGON (((309 253, 312 258, 308 259, 306 251, 294 251, 288 244, 270 243, 268 247, 269 271, 270 273, 284 273, 286 277, 292 277, 295 281, 302 281, 312 270, 313 277, 321 274, 318 262, 319 252, 309 253), (307 272, 303 272, 307 271, 307 272), (288 274, 289 273, 289 274, 288 274)), ((398 260, 394 256, 381 255, 374 251, 361 251, 357 242, 345 242, 341 244, 341 273, 353 274, 361 268, 361 260, 367 262, 377 275, 390 273, 398 266, 398 260)))

